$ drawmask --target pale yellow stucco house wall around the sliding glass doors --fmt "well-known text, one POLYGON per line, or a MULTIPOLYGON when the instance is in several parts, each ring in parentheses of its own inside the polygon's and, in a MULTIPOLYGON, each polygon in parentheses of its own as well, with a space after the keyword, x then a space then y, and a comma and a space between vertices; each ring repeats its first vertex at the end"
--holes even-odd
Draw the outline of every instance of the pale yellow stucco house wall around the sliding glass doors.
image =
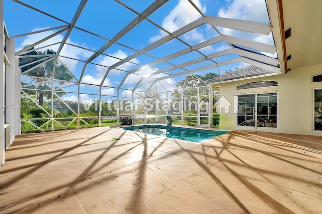
MULTIPOLYGON (((302 67, 291 70, 287 74, 240 80, 220 85, 220 96, 225 96, 233 103, 233 95, 248 93, 278 93, 278 128, 258 128, 258 131, 269 131, 290 134, 322 135, 322 132, 313 132, 313 89, 322 88, 322 83, 312 83, 312 76, 322 73, 322 64, 302 67), (236 90, 239 84, 277 80, 277 87, 236 90)), ((233 106, 230 113, 221 113, 220 128, 225 130, 236 129, 236 114, 233 106)))

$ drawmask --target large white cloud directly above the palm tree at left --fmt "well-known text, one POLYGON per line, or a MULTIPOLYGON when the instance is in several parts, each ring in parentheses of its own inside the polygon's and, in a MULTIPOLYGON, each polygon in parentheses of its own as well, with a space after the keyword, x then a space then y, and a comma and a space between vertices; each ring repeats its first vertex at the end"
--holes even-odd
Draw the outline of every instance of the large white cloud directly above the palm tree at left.
MULTIPOLYGON (((32 30, 32 32, 35 32, 35 31, 40 31, 40 30, 45 30, 45 29, 48 29, 49 27, 46 27, 46 28, 35 28, 32 30)), ((28 35, 25 40, 22 42, 21 44, 21 47, 20 48, 17 48, 16 49, 16 52, 17 51, 20 51, 21 49, 23 49, 23 46, 25 45, 32 45, 52 34, 54 34, 56 31, 54 30, 50 30, 50 31, 46 31, 46 32, 42 32, 42 33, 38 33, 38 34, 32 34, 32 35, 28 35)), ((64 33, 62 33, 64 34, 64 33)), ((57 42, 61 42, 63 40, 63 35, 61 34, 58 34, 57 36, 49 39, 49 40, 46 40, 45 42, 37 45, 35 48, 37 47, 42 47, 42 46, 46 46, 46 45, 50 45, 50 44, 53 44, 53 43, 57 43, 57 42)), ((73 45, 77 45, 77 46, 81 46, 81 47, 84 47, 86 48, 86 45, 79 45, 73 41, 71 41, 69 38, 67 39, 67 43, 70 43, 70 44, 73 44, 73 45)), ((41 51, 45 51, 46 49, 52 49, 54 51, 57 51, 58 50, 58 47, 59 47, 60 44, 57 44, 57 45, 54 45, 54 46, 50 46, 50 47, 47 47, 41 51)), ((90 52, 90 51, 86 51, 86 50, 83 50, 81 48, 76 48, 76 47, 73 47, 73 46, 69 46, 69 45, 65 45, 63 47, 63 49, 61 50, 60 52, 60 55, 62 56, 67 56, 67 57, 70 57, 70 58, 74 58, 74 59, 81 59, 81 58, 88 58, 92 55, 93 53, 90 52)), ((77 61, 76 60, 71 60, 71 59, 66 59, 66 58, 63 58, 61 57, 60 60, 67 65, 68 69, 73 72, 75 71, 76 69, 76 64, 77 64, 77 61)))

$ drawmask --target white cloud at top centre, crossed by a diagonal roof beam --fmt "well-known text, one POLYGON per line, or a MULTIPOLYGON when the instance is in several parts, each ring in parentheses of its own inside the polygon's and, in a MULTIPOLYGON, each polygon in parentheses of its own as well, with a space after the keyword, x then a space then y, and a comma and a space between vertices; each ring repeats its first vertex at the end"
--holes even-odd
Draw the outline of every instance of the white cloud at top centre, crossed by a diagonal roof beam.
MULTIPOLYGON (((206 6, 202 6, 199 0, 193 0, 193 2, 199 9, 201 9, 203 13, 206 12, 206 6)), ((201 15, 188 1, 180 0, 179 4, 170 12, 167 17, 165 17, 162 22, 162 27, 170 33, 173 33, 185 25, 199 19, 200 17, 201 15)), ((165 36, 167 36, 167 33, 160 30, 159 35, 150 38, 149 42, 153 43, 165 36)), ((185 37, 193 38, 199 41, 203 39, 203 35, 198 33, 196 30, 189 32, 185 35, 185 37)))

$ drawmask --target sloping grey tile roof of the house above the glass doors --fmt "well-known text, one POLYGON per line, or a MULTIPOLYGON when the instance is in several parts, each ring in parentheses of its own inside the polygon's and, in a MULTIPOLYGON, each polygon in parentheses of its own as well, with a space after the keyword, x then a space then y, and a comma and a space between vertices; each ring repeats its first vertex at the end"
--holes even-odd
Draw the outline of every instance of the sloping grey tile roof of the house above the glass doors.
MULTIPOLYGON (((245 67, 244 70, 245 70, 246 77, 259 76, 259 75, 273 73, 273 72, 270 72, 266 69, 259 68, 259 67, 253 66, 253 65, 245 67)), ((244 71, 242 68, 238 69, 236 71, 231 71, 231 72, 221 75, 221 80, 223 82, 227 81, 227 80, 234 80, 234 79, 240 79, 240 78, 244 78, 244 71)), ((221 82, 221 80, 220 80, 220 76, 217 76, 217 77, 207 80, 207 83, 217 83, 217 82, 221 82)))

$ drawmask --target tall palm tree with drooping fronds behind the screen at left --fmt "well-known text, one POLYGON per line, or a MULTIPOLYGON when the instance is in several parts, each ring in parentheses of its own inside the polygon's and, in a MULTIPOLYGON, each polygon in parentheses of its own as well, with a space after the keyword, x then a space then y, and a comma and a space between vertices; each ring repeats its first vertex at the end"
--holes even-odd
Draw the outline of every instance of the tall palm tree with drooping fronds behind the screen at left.
MULTIPOLYGON (((29 45, 24 46, 24 48, 28 47, 29 45)), ((31 48, 30 50, 33 50, 34 48, 31 48)), ((34 64, 27 65, 22 68, 22 72, 27 71, 29 69, 32 69, 33 67, 41 64, 43 61, 45 61, 45 57, 42 55, 55 55, 56 52, 54 50, 47 49, 46 51, 31 51, 27 54, 24 54, 23 56, 33 56, 32 58, 20 58, 19 59, 19 66, 26 65, 32 62, 35 62, 34 64), (34 56, 39 57, 34 57, 34 56), (43 59, 43 60, 42 60, 43 59), (38 61, 38 62, 36 62, 38 61)), ((28 75, 29 78, 31 78, 31 81, 28 84, 33 83, 34 85, 26 87, 25 91, 28 94, 37 95, 38 104, 40 106, 43 105, 44 98, 51 99, 51 91, 52 86, 48 82, 44 82, 47 79, 53 78, 54 80, 63 80, 63 81, 56 81, 59 82, 59 85, 62 86, 65 84, 64 81, 71 81, 73 79, 73 76, 68 73, 68 70, 66 67, 62 64, 59 64, 58 61, 51 60, 47 63, 42 64, 41 66, 38 66, 29 72, 27 72, 24 75, 28 75), (56 63, 55 63, 56 62, 56 63), (55 72, 53 75, 53 69, 55 68, 55 72), (37 89, 37 90, 28 90, 30 89, 37 89)), ((27 83, 22 82, 22 85, 26 85, 27 83)), ((58 96, 63 96, 66 94, 62 89, 55 86, 54 90, 58 96)))

